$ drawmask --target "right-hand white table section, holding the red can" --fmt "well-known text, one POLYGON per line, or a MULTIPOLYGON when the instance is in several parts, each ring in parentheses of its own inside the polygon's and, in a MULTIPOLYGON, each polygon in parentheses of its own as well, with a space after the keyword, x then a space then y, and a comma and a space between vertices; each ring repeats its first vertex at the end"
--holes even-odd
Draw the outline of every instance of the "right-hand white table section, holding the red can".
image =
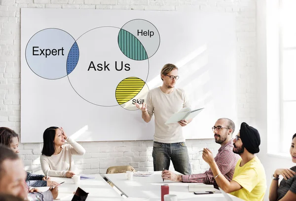
MULTIPOLYGON (((168 184, 170 194, 177 195, 178 201, 225 201, 221 193, 210 195, 195 195, 188 191, 188 183, 172 182, 161 179, 161 171, 156 171, 149 177, 133 177, 133 180, 127 180, 125 173, 105 174, 105 177, 111 181, 126 197, 149 198, 150 201, 160 201, 161 185, 168 184)), ((218 190, 218 192, 220 192, 218 190)), ((231 196, 233 201, 242 201, 231 196)))

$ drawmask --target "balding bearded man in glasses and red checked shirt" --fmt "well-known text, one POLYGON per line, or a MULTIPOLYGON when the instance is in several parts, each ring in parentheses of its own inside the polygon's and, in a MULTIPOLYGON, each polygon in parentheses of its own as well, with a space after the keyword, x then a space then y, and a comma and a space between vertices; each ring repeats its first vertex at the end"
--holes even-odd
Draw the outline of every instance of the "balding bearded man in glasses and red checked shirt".
MULTIPOLYGON (((217 120, 215 125, 212 127, 215 142, 221 145, 214 160, 216 161, 221 174, 224 175, 228 181, 231 181, 234 173, 234 167, 237 160, 239 159, 239 156, 234 154, 232 151, 232 134, 234 129, 234 122, 227 118, 221 118, 217 120)), ((163 170, 161 176, 163 179, 168 179, 171 181, 212 184, 218 189, 218 185, 215 181, 211 168, 204 173, 192 175, 179 175, 169 170, 163 170)))

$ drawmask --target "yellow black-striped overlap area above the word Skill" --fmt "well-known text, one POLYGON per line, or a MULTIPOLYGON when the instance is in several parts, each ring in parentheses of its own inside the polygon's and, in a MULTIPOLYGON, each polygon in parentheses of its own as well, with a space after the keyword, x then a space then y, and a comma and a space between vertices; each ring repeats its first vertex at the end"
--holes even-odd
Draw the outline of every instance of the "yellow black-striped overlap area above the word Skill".
POLYGON ((136 77, 129 77, 119 82, 116 87, 115 97, 119 105, 133 99, 142 90, 145 81, 136 77))

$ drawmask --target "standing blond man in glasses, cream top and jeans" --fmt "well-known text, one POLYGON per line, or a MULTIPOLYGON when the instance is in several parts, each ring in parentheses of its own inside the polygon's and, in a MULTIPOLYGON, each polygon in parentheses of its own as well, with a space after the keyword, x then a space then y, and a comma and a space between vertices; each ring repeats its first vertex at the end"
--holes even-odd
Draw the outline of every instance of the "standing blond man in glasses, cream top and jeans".
POLYGON ((174 64, 164 65, 160 73, 162 86, 148 92, 147 105, 136 104, 136 106, 142 111, 142 118, 146 122, 151 120, 153 114, 155 115, 152 151, 154 171, 169 169, 172 160, 176 171, 190 174, 191 166, 182 127, 191 120, 165 124, 174 113, 185 107, 190 108, 185 91, 175 87, 179 79, 178 74, 178 68, 174 64))

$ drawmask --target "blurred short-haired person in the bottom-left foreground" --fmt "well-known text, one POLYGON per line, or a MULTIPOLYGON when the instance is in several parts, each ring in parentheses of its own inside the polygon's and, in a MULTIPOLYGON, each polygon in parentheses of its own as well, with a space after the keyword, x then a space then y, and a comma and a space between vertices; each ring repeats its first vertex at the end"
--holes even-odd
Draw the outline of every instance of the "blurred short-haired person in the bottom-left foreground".
POLYGON ((21 159, 9 148, 0 145, 0 194, 9 194, 29 201, 53 201, 58 187, 39 193, 29 193, 25 183, 26 171, 21 159))

